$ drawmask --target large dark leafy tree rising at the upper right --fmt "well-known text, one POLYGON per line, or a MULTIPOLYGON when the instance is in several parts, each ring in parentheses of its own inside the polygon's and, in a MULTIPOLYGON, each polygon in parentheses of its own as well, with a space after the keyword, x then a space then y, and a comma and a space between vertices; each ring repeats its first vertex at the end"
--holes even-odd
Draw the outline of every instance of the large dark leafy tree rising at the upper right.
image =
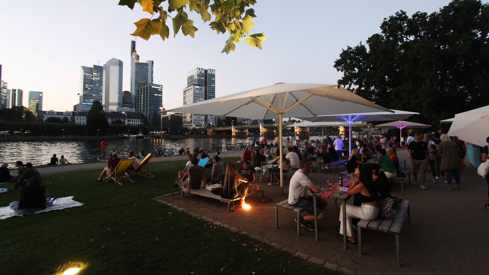
POLYGON ((400 11, 380 29, 341 52, 339 85, 381 106, 419 112, 431 125, 488 105, 488 4, 454 0, 411 17, 400 11))

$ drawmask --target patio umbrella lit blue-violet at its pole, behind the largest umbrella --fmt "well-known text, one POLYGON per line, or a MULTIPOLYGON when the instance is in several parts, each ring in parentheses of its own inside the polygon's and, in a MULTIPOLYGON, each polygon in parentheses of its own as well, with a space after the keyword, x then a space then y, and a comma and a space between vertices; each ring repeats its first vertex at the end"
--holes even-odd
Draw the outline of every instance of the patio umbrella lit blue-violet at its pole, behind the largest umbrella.
MULTIPOLYGON (((389 110, 389 112, 374 112, 374 113, 343 113, 338 115, 317 115, 317 116, 299 116, 296 118, 302 120, 308 120, 312 122, 318 121, 345 121, 348 122, 350 127, 350 134, 348 135, 349 150, 348 153, 352 152, 352 122, 355 121, 382 121, 382 120, 394 120, 394 119, 405 119, 411 115, 419 115, 420 113, 399 111, 399 110, 389 110)), ((399 137, 400 138, 400 137, 399 137)))

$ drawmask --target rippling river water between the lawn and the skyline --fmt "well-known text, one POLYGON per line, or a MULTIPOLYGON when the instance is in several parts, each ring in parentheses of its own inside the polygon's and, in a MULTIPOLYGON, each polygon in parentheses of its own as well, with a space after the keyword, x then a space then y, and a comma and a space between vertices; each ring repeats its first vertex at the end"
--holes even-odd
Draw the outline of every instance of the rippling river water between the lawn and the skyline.
MULTIPOLYGON (((312 137, 314 140, 320 137, 312 137)), ((287 138, 284 138, 284 140, 287 138)), ((321 138, 320 138, 321 139, 321 138)), ((276 138, 269 138, 268 143, 275 142, 276 138)), ((47 164, 53 154, 60 158, 64 155, 70 163, 81 163, 90 161, 94 151, 100 148, 101 140, 54 140, 54 141, 8 141, 0 142, 0 162, 8 162, 8 168, 15 168, 14 163, 22 160, 24 163, 32 162, 34 165, 47 164)), ((164 144, 184 149, 189 147, 200 147, 209 150, 211 144, 217 143, 251 143, 253 138, 222 138, 222 137, 203 137, 203 138, 165 138, 161 139, 108 139, 106 141, 106 156, 115 150, 122 157, 127 151, 134 150, 138 154, 141 151, 153 153, 155 146, 164 144)), ((100 155, 100 151, 97 152, 100 155)))

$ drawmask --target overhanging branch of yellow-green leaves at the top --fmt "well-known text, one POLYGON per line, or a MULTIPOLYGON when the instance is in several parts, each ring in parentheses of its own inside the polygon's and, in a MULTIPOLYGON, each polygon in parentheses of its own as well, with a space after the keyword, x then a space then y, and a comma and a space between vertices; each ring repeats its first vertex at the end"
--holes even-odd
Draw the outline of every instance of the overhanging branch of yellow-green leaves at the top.
POLYGON ((194 21, 188 19, 184 11, 195 11, 204 22, 219 33, 229 33, 222 52, 234 50, 234 42, 248 36, 245 42, 253 48, 262 48, 262 42, 267 39, 263 33, 249 34, 249 29, 255 24, 251 22, 256 17, 255 11, 249 8, 256 0, 120 0, 119 5, 134 8, 139 4, 143 11, 151 14, 151 18, 143 18, 135 22, 136 30, 131 35, 148 40, 152 35, 159 35, 165 40, 170 35, 168 24, 173 25, 175 37, 181 29, 183 35, 194 37, 197 28, 194 21), (209 12, 210 10, 210 12, 209 12), (153 18, 155 15, 156 18, 153 18))

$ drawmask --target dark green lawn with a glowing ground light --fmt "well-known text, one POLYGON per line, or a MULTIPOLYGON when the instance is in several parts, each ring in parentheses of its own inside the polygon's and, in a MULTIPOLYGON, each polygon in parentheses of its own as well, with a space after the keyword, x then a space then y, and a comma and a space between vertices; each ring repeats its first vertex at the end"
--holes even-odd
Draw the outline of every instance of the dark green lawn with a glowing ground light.
MULTIPOLYGON (((226 160, 236 160, 227 158, 226 160)), ((101 170, 43 175, 46 193, 83 206, 0 221, 0 269, 8 274, 333 274, 319 265, 152 200, 186 160, 151 163, 152 179, 97 183, 101 170)), ((210 170, 208 170, 210 172, 210 170)), ((0 205, 19 200, 3 184, 0 205)))

